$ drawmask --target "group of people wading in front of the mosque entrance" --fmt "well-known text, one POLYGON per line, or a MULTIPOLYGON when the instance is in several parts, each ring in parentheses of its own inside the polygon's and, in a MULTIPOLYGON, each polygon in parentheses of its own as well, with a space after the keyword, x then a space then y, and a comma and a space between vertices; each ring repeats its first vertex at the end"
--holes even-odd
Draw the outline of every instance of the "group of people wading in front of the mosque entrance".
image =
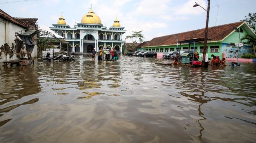
MULTIPOLYGON (((100 50, 98 52, 95 51, 95 48, 93 48, 93 51, 92 51, 92 58, 93 60, 95 60, 95 57, 96 55, 98 56, 98 61, 102 61, 102 59, 104 59, 104 54, 105 54, 105 51, 100 48, 100 50)), ((110 50, 110 54, 111 54, 111 58, 113 61, 117 61, 118 59, 118 54, 117 54, 117 51, 115 48, 113 48, 112 50, 110 50)))

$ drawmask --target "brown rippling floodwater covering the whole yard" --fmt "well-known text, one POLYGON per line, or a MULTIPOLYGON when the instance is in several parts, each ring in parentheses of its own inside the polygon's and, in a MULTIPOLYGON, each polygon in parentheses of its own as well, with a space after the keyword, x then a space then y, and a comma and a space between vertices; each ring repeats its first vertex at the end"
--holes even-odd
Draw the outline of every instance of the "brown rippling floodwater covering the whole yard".
POLYGON ((256 64, 120 57, 0 67, 1 143, 256 142, 256 64))

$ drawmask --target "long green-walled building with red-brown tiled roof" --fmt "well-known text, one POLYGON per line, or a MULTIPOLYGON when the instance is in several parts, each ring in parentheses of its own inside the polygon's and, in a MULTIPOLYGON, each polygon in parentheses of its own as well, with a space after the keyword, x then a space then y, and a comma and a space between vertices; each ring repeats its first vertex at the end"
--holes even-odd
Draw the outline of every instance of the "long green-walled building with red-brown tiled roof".
MULTIPOLYGON (((200 39, 204 38, 205 29, 192 30, 177 34, 171 34, 167 36, 156 37, 150 40, 148 43, 144 43, 141 48, 137 50, 145 50, 145 51, 155 51, 158 52, 158 56, 161 56, 163 52, 171 52, 178 51, 180 49, 180 45, 177 44, 178 41, 184 41, 187 39, 200 39)), ((220 55, 220 57, 229 57, 235 58, 237 48, 233 45, 233 43, 238 43, 238 38, 243 37, 245 34, 252 34, 254 36, 254 31, 247 25, 245 21, 239 21, 235 23, 229 23, 225 25, 219 25, 214 27, 209 27, 208 29, 208 38, 211 40, 207 41, 207 54, 208 55, 220 55), (240 32, 236 32, 233 27, 237 27, 240 29, 240 32)), ((189 50, 193 49, 189 47, 189 44, 182 44, 181 50, 189 50)), ((196 43, 195 49, 198 50, 200 54, 203 52, 203 42, 196 43)), ((244 45, 240 48, 239 57, 246 53, 251 53, 252 47, 250 45, 244 45)))

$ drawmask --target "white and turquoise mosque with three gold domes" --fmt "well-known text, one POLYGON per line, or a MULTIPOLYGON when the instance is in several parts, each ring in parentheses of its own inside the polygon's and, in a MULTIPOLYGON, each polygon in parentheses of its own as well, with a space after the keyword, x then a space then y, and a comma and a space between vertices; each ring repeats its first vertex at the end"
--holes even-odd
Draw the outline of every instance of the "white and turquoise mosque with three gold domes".
POLYGON ((105 50, 113 47, 122 52, 122 44, 125 43, 123 34, 126 30, 121 27, 117 16, 113 26, 107 29, 92 8, 82 17, 81 23, 74 25, 74 28, 66 24, 62 15, 53 26, 50 29, 69 42, 72 47, 70 52, 91 53, 93 48, 98 51, 100 48, 105 50))

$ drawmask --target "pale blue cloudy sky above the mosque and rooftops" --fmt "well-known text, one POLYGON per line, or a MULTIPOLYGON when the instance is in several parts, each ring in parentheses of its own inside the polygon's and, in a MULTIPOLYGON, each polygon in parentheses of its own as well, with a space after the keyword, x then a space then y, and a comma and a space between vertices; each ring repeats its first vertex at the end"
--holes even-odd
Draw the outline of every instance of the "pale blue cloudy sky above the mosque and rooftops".
MULTIPOLYGON (((127 30, 123 38, 143 30, 144 40, 149 41, 205 28, 206 11, 193 7, 195 2, 207 9, 207 0, 0 0, 0 9, 12 17, 38 18, 38 25, 47 27, 53 27, 63 13, 67 25, 74 27, 92 7, 108 28, 118 14, 127 30)), ((211 0, 209 27, 243 20, 256 12, 255 5, 256 0, 211 0)))

